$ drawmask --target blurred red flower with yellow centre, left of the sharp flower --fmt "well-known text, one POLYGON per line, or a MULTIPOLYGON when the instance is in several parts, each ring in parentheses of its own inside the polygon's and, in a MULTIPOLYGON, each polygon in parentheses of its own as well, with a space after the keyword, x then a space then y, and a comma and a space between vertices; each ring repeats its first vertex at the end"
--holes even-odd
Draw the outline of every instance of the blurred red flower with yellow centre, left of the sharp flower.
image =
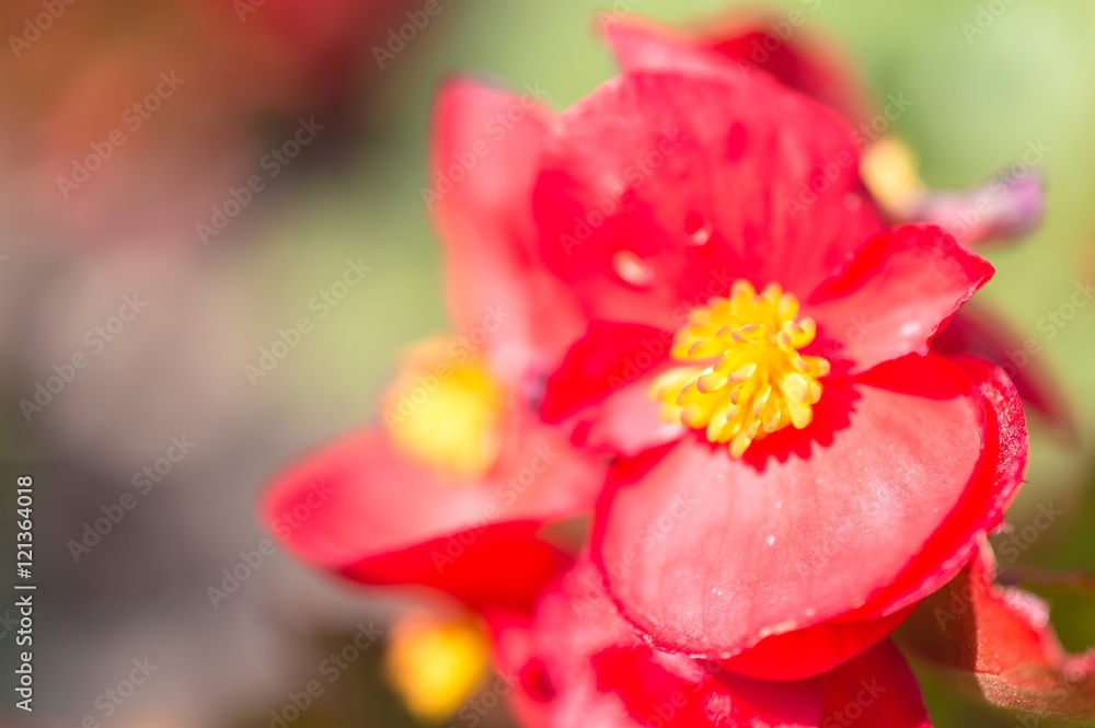
POLYGON ((515 242, 533 232, 527 208, 546 124, 530 99, 445 89, 427 200, 459 335, 411 357, 385 397, 385 427, 278 476, 264 516, 306 561, 367 583, 440 589, 481 611, 527 609, 560 567, 562 553, 533 534, 588 512, 603 465, 531 406, 562 337, 580 325, 566 291, 515 242), (474 169, 440 184, 465 151, 474 169))

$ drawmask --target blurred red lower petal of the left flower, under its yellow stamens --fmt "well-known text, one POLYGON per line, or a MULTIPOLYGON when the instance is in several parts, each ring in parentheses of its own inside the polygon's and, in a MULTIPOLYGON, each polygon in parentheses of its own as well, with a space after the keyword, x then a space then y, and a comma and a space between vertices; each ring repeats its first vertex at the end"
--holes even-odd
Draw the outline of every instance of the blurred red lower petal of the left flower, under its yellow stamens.
MULTIPOLYGON (((542 426, 541 426, 542 427, 542 426)), ((411 463, 387 437, 348 437, 285 472, 263 515, 295 554, 373 585, 418 585, 475 609, 527 606, 565 561, 533 539, 585 510, 600 469, 557 440, 528 440, 482 482, 411 463)))

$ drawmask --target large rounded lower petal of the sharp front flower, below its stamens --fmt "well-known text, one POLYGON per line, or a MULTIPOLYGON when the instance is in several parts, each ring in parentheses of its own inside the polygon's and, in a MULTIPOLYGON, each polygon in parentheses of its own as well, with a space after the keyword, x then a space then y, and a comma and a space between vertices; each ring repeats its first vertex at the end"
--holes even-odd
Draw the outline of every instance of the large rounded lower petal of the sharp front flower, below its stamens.
POLYGON ((1022 446, 1022 471, 1025 453, 1022 415, 1002 431, 1001 406, 935 356, 837 379, 809 427, 744 460, 687 437, 615 463, 593 557, 667 650, 729 657, 861 605, 873 612, 857 621, 891 614, 960 568, 933 539, 954 552, 999 521, 1021 476, 1004 459, 1022 446), (888 587, 888 602, 868 602, 888 587))

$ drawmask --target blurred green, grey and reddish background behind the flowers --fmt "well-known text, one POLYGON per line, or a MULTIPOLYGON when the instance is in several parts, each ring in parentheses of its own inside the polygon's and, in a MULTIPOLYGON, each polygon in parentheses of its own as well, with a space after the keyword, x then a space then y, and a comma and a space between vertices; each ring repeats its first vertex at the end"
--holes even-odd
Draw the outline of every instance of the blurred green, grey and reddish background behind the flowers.
MULTIPOLYGON (((281 553, 216 608, 207 590, 266 538, 255 515, 266 478, 372 421, 401 347, 445 327, 422 197, 438 83, 471 72, 537 86, 563 108, 612 72, 596 11, 704 27, 739 7, 440 0, 412 41, 378 60, 404 13, 424 4, 4 2, 0 487, 35 478, 39 591, 33 716, 13 707, 14 634, 0 619, 3 724, 74 726, 91 716, 119 728, 268 726, 270 710, 358 623, 387 624, 404 601, 334 582, 281 553), (272 155, 295 138, 308 140, 296 155, 291 146, 284 159, 272 155), (232 206, 232 190, 253 177, 262 189, 232 206), (215 220, 215 209, 226 218, 215 220), (222 229, 199 228, 215 222, 222 229), (333 289, 349 262, 370 271, 333 289), (321 316, 312 302, 324 291, 344 296, 321 316), (302 315, 312 331, 270 371, 249 377, 302 315), (66 369, 78 355, 84 366, 66 369), (64 371, 71 381, 41 411, 21 404, 64 371), (136 485, 172 438, 193 447, 158 482, 136 485), (70 542, 126 494, 137 506, 74 553, 70 542), (107 716, 96 701, 143 658, 155 672, 107 716)), ((1011 521, 1023 533, 1039 507, 1063 516, 1013 540, 1016 557, 1003 562, 1095 569, 1095 304, 1046 325, 1095 275, 1095 4, 762 7, 774 19, 800 11, 795 32, 842 45, 876 97, 912 101, 894 129, 933 186, 982 182, 1031 146, 1046 150, 1036 164, 1048 183, 1046 222, 987 253, 998 275, 981 299, 1037 343, 1037 366, 1059 378, 1076 432, 1035 423, 1028 485, 1011 521)), ((10 564, 14 497, 0 508, 10 564)), ((1046 594, 1065 643, 1095 644, 1093 602, 1068 589, 1046 594)), ((7 608, 0 602, 0 617, 7 608)), ((365 650, 293 725, 416 725, 383 678, 383 649, 365 650)), ((1018 725, 922 677, 937 725, 1018 725)), ((475 715, 446 725, 509 725, 500 707, 475 715)))

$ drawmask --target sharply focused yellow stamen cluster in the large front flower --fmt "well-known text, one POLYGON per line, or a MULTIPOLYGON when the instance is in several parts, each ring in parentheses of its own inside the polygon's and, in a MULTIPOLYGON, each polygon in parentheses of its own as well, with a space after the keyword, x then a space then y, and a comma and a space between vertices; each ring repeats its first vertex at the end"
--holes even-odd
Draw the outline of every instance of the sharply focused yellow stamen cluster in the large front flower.
POLYGON ((809 425, 829 362, 798 353, 817 326, 797 315, 793 294, 776 284, 758 294, 747 280, 736 280, 729 298, 693 309, 671 354, 694 363, 666 371, 652 389, 662 419, 705 430, 711 442, 728 442, 735 458, 753 440, 809 425))

